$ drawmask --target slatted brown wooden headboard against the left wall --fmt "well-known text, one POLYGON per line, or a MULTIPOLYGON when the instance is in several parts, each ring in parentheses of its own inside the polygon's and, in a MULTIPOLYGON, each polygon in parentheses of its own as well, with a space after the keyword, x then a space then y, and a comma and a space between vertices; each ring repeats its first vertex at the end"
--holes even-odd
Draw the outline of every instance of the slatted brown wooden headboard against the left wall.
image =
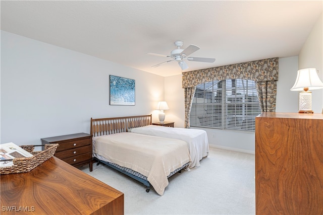
POLYGON ((101 136, 112 133, 127 132, 130 128, 151 125, 151 123, 151 114, 100 119, 91 118, 91 135, 101 136))

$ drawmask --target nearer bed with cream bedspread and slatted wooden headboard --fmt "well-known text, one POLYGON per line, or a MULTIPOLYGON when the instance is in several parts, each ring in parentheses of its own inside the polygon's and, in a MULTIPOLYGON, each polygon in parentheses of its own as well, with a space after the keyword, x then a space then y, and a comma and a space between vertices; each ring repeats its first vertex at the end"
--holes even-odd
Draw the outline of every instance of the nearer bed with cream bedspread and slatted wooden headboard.
POLYGON ((191 162, 187 144, 179 139, 127 132, 129 124, 139 127, 150 123, 137 117, 91 118, 93 157, 142 182, 147 192, 151 185, 163 195, 168 178, 191 162))

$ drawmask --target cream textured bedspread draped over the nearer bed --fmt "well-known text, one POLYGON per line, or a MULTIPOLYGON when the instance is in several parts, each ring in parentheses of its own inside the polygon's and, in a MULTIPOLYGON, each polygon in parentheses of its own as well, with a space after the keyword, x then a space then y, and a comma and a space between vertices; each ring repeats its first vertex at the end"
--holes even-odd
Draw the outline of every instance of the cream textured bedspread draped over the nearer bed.
POLYGON ((122 167, 147 177, 159 195, 167 176, 191 161, 186 142, 179 139, 122 132, 93 137, 93 151, 122 167))

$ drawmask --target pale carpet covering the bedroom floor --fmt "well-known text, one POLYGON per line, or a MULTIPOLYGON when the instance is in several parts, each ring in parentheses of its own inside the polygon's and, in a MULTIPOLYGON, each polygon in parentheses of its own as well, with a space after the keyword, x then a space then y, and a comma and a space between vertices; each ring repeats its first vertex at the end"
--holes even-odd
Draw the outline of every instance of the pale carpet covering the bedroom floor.
POLYGON ((125 194, 125 214, 255 214, 254 155, 210 148, 201 166, 169 178, 163 196, 102 164, 82 171, 125 194))

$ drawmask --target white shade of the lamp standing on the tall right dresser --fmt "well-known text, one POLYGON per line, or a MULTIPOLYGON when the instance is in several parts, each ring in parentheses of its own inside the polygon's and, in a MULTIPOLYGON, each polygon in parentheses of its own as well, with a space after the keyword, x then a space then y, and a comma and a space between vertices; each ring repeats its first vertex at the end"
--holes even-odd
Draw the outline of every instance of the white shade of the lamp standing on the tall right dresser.
POLYGON ((304 88, 308 88, 308 90, 323 88, 323 83, 318 78, 316 68, 304 68, 297 71, 297 78, 291 90, 303 91, 304 88))

